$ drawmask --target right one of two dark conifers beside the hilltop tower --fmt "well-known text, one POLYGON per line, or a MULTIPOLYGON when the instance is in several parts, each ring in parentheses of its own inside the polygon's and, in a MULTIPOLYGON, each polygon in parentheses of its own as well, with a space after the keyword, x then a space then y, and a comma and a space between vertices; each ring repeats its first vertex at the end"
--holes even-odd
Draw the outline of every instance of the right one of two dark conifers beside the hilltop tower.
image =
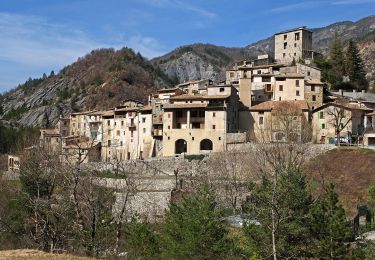
POLYGON ((367 89, 368 83, 363 67, 363 61, 359 54, 357 45, 353 40, 349 41, 348 49, 346 51, 346 72, 357 90, 367 89))

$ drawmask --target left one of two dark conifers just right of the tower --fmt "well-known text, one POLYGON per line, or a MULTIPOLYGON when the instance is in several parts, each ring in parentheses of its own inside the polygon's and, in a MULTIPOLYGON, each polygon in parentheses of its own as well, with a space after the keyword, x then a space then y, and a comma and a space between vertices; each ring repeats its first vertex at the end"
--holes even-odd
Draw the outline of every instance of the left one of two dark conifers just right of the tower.
POLYGON ((329 82, 333 88, 337 88, 343 81, 345 75, 345 58, 343 53, 343 46, 338 35, 335 34, 331 49, 330 49, 330 64, 332 66, 329 82))

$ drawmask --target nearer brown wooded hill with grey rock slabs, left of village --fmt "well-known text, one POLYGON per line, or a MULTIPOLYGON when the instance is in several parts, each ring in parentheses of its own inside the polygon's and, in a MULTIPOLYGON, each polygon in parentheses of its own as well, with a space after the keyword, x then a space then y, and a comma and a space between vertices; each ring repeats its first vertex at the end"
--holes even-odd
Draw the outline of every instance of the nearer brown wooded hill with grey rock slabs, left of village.
POLYGON ((57 75, 29 80, 7 93, 2 116, 21 125, 51 125, 74 110, 103 109, 126 98, 147 99, 171 80, 131 49, 92 51, 57 75))

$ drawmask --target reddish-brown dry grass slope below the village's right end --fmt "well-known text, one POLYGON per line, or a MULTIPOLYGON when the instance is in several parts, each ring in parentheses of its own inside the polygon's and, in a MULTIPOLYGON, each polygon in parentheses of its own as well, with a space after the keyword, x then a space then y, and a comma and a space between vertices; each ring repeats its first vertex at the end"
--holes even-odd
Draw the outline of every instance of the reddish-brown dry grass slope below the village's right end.
POLYGON ((310 161, 305 172, 318 184, 335 183, 341 204, 353 217, 357 204, 366 200, 368 186, 375 184, 375 151, 335 149, 310 161))

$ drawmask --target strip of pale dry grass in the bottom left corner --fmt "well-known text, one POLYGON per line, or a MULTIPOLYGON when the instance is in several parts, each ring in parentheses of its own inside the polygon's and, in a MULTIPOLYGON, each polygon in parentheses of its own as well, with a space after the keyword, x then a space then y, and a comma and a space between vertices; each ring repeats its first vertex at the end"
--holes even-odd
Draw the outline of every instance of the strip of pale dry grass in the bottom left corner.
POLYGON ((33 250, 33 249, 17 249, 0 251, 0 260, 2 259, 57 259, 57 260, 84 260, 90 259, 87 257, 78 257, 67 254, 49 254, 46 252, 33 250))

